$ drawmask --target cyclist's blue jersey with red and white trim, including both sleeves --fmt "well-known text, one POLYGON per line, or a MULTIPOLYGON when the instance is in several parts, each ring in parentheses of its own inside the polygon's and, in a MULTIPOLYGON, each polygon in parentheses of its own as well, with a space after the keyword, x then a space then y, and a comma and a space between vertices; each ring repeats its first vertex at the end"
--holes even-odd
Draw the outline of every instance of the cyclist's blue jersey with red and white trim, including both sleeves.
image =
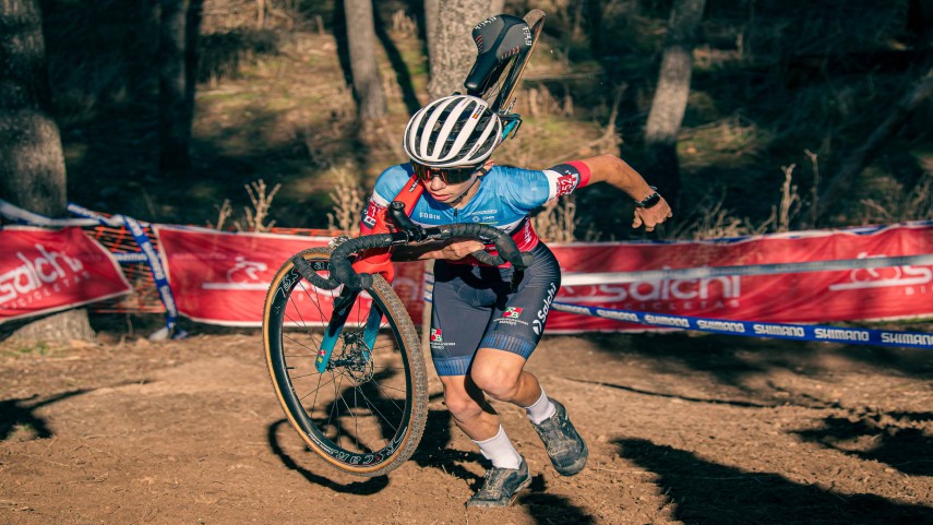
MULTIPOLYGON (((363 214, 363 225, 397 195, 411 178, 410 164, 393 166, 380 175, 363 214)), ((422 227, 455 223, 482 223, 504 230, 515 238, 518 249, 526 251, 538 238, 526 220, 528 214, 545 203, 586 186, 589 169, 582 162, 571 162, 543 169, 522 169, 495 165, 480 179, 477 193, 463 207, 454 208, 438 202, 427 191, 411 210, 411 220, 422 227)), ((374 223, 373 223, 374 224, 374 223)))

